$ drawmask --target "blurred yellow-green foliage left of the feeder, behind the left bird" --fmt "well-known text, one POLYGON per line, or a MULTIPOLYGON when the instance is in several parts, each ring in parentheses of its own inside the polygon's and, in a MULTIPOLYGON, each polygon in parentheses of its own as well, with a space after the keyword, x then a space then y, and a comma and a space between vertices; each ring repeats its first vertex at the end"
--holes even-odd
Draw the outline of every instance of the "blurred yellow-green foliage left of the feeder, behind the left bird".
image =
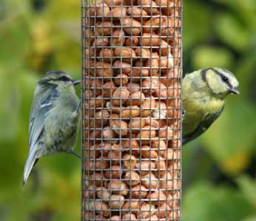
POLYGON ((81 70, 79 2, 44 1, 39 11, 32 3, 0 2, 0 220, 79 220, 81 166, 72 155, 42 159, 22 187, 38 79, 49 69, 74 78, 81 70))

